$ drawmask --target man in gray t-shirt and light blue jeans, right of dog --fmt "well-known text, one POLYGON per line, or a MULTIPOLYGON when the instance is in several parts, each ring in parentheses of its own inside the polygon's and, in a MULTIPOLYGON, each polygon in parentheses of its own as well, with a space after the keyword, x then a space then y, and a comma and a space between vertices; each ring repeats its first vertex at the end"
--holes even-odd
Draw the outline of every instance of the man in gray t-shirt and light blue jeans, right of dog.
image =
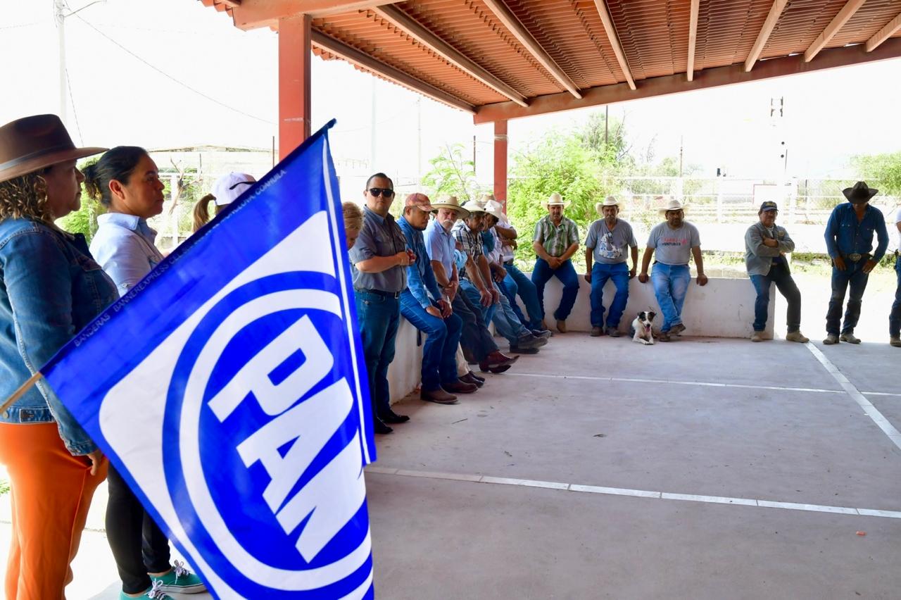
POLYGON ((660 327, 660 341, 669 341, 670 335, 678 335, 685 331, 682 324, 682 305, 688 293, 691 271, 688 260, 695 258, 697 267, 697 285, 705 286, 707 276, 704 274, 704 259, 701 257, 701 236, 697 228, 685 220, 685 206, 678 200, 670 200, 660 209, 666 221, 651 230, 648 236, 648 247, 642 257, 642 273, 638 280, 648 282, 648 268, 651 267, 651 256, 657 251, 657 260, 651 273, 654 295, 663 314, 663 325, 660 327))

